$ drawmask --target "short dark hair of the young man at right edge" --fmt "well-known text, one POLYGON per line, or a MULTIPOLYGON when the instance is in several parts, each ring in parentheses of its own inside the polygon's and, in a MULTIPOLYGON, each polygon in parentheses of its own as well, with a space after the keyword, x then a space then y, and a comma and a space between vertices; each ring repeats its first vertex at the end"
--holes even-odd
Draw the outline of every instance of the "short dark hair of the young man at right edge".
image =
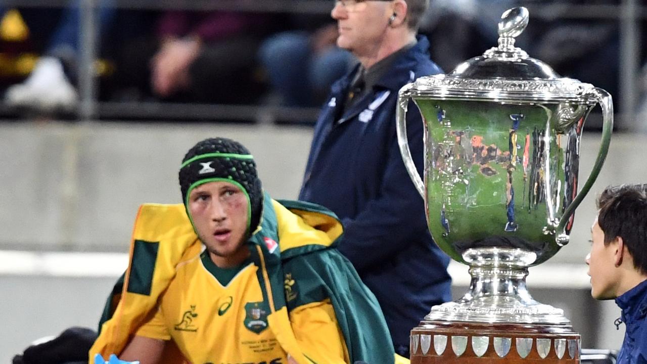
POLYGON ((647 184, 609 186, 597 205, 604 245, 618 236, 622 238, 633 266, 647 274, 647 184))

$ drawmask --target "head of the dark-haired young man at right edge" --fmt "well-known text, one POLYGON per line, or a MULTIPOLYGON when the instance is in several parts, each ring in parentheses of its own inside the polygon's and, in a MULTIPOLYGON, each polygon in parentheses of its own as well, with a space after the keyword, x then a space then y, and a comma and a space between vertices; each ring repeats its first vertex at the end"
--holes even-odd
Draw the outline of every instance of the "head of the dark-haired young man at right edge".
POLYGON ((596 299, 615 299, 647 279, 646 192, 647 185, 621 185, 598 199, 586 257, 596 299))

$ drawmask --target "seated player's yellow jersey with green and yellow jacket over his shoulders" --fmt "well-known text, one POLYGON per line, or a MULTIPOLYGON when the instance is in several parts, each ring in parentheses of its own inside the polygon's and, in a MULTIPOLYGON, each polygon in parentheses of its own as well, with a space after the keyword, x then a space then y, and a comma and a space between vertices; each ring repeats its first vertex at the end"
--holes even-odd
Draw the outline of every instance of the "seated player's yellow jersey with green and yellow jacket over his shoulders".
MULTIPOLYGON (((247 361, 235 356, 247 354, 247 350, 237 349, 242 340, 231 338, 247 337, 251 335, 248 328, 252 328, 260 330, 252 337, 261 343, 261 347, 247 346, 254 355, 258 354, 254 350, 262 351, 263 345, 267 347, 269 343, 269 339, 263 341, 260 336, 267 334, 271 338, 273 334, 280 350, 288 352, 300 364, 390 362, 384 358, 393 356, 393 346, 375 297, 362 285, 350 263, 338 251, 329 249, 342 233, 334 215, 313 204, 279 203, 267 194, 264 205, 262 229, 248 242, 254 264, 245 266, 248 270, 242 269, 234 282, 225 286, 214 286, 215 277, 208 274, 201 262, 203 245, 193 231, 184 205, 142 205, 133 229, 129 266, 105 304, 100 335, 89 350, 89 361, 92 363, 96 354, 104 358, 119 355, 133 334, 139 333, 160 339, 173 338, 167 345, 170 350, 165 351, 161 360, 166 364, 182 363, 177 350, 173 350, 182 346, 181 351, 193 364, 272 363, 278 357, 247 361), (192 275, 195 277, 188 279, 192 275), (238 291, 235 287, 245 284, 250 285, 245 288, 247 293, 256 292, 258 296, 234 294, 238 291), (206 293, 199 295, 200 291, 206 293), (267 319, 263 318, 260 304, 245 308, 247 303, 261 302, 261 295, 268 302, 267 319), (170 301, 177 302, 166 302, 164 297, 173 297, 170 301), (223 297, 226 301, 219 302, 223 297), (228 297, 232 297, 231 303, 228 297), (236 311, 237 320, 223 321, 223 328, 215 328, 221 324, 205 328, 201 320, 220 317, 218 310, 223 315, 236 311), (156 318, 151 319, 151 315, 156 318), (261 330, 266 320, 269 327, 261 330), (148 332, 144 332, 142 324, 146 324, 148 332), (201 345, 196 345, 196 350, 188 348, 190 344, 186 341, 191 331, 175 330, 175 326, 195 330, 194 336, 199 337, 195 341, 201 345), (201 330, 212 332, 212 337, 203 337, 201 330), (184 343, 175 345, 176 336, 177 341, 184 343), (227 361, 201 361, 214 348, 225 352, 214 354, 218 358, 230 355, 229 350, 239 352, 226 357, 233 356, 227 361)), ((273 364, 278 363, 285 363, 285 357, 273 364)))

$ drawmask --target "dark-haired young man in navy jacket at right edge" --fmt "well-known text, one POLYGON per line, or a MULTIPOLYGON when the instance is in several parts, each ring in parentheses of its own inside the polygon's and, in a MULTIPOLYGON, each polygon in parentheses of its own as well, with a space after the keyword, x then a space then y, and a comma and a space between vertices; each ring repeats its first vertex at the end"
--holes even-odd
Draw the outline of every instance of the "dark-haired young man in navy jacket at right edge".
POLYGON ((647 185, 608 187, 586 256, 595 299, 615 299, 626 325, 617 364, 647 364, 647 185))

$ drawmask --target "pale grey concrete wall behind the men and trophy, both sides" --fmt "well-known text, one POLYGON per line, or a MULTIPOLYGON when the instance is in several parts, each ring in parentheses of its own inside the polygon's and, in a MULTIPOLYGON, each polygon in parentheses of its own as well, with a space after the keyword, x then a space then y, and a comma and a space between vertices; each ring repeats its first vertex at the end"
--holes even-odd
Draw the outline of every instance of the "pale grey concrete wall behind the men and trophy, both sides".
MULTIPOLYGON (((138 205, 180 202, 182 156, 195 142, 216 135, 250 148, 272 196, 296 198, 311 132, 220 124, 0 124, 0 250, 126 252, 138 205)), ((582 139, 582 181, 599 137, 586 133, 582 139)), ((571 243, 549 262, 568 264, 572 269, 561 279, 573 279, 570 272, 584 277, 584 284, 576 290, 542 286, 534 293, 539 301, 545 297, 545 303, 564 308, 576 329, 587 332, 589 347, 617 348, 624 330, 613 326, 619 316, 613 302, 586 298, 584 256, 595 196, 606 185, 647 181, 645 158, 644 135, 614 136, 593 193, 577 210, 571 243)), ((0 266, 7 265, 0 259, 0 266)), ((531 270, 531 293, 532 275, 531 270)), ((94 326, 112 282, 113 277, 61 278, 0 269, 0 322, 5 323, 0 361, 40 336, 72 325, 94 326)), ((464 286, 455 288, 458 295, 464 291, 464 286)))

